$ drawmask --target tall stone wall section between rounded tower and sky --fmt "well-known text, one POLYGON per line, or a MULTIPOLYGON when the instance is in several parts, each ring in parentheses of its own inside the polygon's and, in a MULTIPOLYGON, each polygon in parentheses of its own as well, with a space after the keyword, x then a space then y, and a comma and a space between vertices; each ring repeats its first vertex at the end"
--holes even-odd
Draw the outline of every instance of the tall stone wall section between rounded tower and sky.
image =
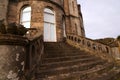
POLYGON ((66 31, 67 33, 84 35, 82 17, 79 15, 77 0, 64 0, 64 10, 66 13, 66 31))

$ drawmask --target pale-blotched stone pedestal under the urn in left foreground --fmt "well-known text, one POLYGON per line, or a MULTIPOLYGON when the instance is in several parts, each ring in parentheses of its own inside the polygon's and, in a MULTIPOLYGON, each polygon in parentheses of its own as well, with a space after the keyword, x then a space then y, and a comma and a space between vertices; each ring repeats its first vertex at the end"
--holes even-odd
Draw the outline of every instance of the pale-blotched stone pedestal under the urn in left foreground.
POLYGON ((23 80, 27 39, 0 35, 0 80, 23 80))

